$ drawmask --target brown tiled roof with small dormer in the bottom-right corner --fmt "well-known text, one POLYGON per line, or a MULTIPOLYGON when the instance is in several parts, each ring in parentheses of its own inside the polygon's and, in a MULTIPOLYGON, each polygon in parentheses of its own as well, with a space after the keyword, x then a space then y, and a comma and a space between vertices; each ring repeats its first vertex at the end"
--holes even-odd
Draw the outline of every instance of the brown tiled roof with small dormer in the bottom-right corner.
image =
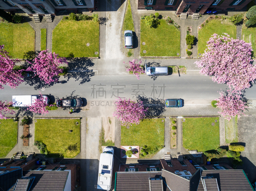
MULTIPOLYGON (((253 191, 251 184, 243 170, 208 170, 202 171, 202 177, 213 176, 221 191, 253 191)), ((202 181, 199 182, 197 191, 203 191, 202 181)))

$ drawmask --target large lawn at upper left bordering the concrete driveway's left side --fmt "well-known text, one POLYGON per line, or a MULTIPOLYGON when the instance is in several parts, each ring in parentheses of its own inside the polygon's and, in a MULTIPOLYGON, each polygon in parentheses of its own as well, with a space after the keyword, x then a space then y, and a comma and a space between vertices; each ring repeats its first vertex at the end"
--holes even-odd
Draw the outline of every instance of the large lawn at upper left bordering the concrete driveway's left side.
POLYGON ((99 37, 98 22, 60 21, 52 32, 52 52, 63 57, 98 57, 94 53, 100 52, 99 37))

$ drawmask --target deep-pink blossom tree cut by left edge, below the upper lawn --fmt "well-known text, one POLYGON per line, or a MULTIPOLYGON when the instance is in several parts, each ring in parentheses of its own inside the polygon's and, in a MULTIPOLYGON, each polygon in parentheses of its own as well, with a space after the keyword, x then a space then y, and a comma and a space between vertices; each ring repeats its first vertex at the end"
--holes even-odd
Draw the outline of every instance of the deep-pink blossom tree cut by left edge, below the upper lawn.
POLYGON ((4 45, 0 45, 0 89, 3 90, 3 85, 9 85, 11 88, 16 88, 23 82, 21 70, 12 70, 18 59, 11 59, 9 52, 4 50, 4 45))

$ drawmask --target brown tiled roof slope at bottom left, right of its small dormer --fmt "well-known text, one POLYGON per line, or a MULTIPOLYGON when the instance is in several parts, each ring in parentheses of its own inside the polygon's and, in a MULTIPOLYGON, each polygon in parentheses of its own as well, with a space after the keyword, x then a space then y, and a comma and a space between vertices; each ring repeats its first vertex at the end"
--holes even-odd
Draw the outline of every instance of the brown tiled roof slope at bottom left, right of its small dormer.
POLYGON ((30 191, 62 191, 65 187, 68 171, 24 171, 24 177, 35 177, 30 191))

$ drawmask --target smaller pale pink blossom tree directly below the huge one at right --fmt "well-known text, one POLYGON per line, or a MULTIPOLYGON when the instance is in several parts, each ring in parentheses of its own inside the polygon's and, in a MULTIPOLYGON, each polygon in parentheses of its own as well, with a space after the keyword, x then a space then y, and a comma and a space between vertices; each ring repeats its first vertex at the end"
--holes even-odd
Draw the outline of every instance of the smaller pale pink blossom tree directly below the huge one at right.
POLYGON ((239 117, 239 114, 244 114, 244 110, 248 107, 246 106, 246 102, 242 100, 241 92, 237 92, 236 90, 228 90, 227 95, 220 92, 220 98, 215 100, 217 101, 215 105, 221 108, 221 112, 219 113, 228 121, 231 117, 235 117, 236 115, 239 117))

